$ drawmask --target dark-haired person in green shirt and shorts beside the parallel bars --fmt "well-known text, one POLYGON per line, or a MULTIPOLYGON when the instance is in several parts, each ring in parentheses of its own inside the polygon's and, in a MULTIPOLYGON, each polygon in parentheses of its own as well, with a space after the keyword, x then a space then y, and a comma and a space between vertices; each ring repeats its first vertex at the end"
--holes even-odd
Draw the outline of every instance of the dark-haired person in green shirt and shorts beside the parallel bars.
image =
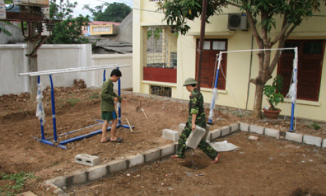
POLYGON ((115 112, 114 101, 119 101, 120 103, 127 103, 126 99, 123 99, 121 96, 118 96, 113 92, 113 83, 119 81, 122 74, 120 70, 114 69, 111 72, 110 78, 107 79, 102 86, 101 92, 101 111, 102 119, 104 120, 102 126, 102 138, 101 142, 105 143, 108 141, 111 142, 121 142, 123 138, 118 138, 115 133, 117 131, 118 116, 115 112), (111 125, 111 138, 106 138, 106 130, 108 129, 108 124, 112 120, 111 125))

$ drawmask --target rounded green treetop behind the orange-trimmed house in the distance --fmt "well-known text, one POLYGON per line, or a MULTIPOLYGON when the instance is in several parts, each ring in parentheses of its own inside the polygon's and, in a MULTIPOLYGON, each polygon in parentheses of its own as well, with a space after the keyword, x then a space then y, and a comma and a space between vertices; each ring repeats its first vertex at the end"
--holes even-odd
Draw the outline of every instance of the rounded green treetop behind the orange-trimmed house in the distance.
MULTIPOLYGON (((96 13, 94 20, 106 22, 122 22, 123 19, 131 12, 131 8, 125 3, 110 3, 104 12, 96 13)), ((93 14, 94 15, 94 14, 93 14)))

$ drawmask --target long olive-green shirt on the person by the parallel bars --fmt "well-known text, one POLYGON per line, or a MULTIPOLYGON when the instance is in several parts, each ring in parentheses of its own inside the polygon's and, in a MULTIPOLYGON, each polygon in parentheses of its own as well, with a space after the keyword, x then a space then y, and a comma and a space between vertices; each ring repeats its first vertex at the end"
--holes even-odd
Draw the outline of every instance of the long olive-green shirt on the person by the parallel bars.
POLYGON ((113 82, 108 78, 102 86, 101 92, 101 111, 102 112, 112 112, 115 111, 114 108, 114 97, 118 97, 121 102, 122 97, 118 96, 113 92, 113 82))

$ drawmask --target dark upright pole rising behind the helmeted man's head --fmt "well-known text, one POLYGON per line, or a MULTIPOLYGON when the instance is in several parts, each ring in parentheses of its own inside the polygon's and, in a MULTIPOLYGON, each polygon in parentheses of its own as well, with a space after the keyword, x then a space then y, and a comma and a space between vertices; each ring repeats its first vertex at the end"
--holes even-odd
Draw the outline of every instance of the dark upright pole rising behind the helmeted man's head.
POLYGON ((197 89, 200 91, 200 76, 201 76, 201 63, 203 59, 203 47, 205 40, 205 25, 206 25, 206 12, 207 12, 207 0, 203 0, 202 14, 201 14, 201 26, 200 26, 200 39, 199 39, 199 58, 198 58, 198 70, 196 79, 198 82, 197 89))

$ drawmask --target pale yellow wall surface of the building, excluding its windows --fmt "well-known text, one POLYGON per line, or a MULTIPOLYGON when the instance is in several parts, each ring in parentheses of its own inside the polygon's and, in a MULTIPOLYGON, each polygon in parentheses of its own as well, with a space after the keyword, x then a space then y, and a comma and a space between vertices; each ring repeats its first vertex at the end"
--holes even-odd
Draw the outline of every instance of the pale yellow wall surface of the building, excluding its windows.
MULTIPOLYGON (((135 8, 141 8, 145 10, 157 10, 155 2, 151 1, 134 1, 135 8)), ((326 8, 320 8, 321 13, 316 15, 326 15, 326 8)), ((209 18, 210 24, 206 24, 205 38, 209 39, 228 39, 228 51, 234 50, 246 50, 257 49, 255 38, 252 44, 252 31, 248 28, 248 31, 229 31, 228 30, 228 13, 240 13, 238 8, 230 6, 229 9, 225 9, 223 14, 209 18)), ((143 64, 141 59, 144 56, 144 45, 141 35, 143 35, 144 26, 162 26, 166 22, 162 22, 162 13, 142 12, 134 10, 134 91, 141 93, 150 93, 150 85, 157 85, 155 82, 143 81, 142 70, 143 64), (137 40, 138 39, 138 40, 137 40), (137 80, 135 78, 138 77, 137 80)), ((280 21, 280 18, 277 19, 280 21)), ((295 28, 295 31, 291 34, 289 39, 326 39, 326 17, 311 17, 308 21, 304 20, 302 25, 295 28), (313 31, 311 31, 313 29, 313 31)), ((277 22, 276 30, 271 31, 271 35, 275 36, 279 32, 282 22, 277 22)), ((259 24, 259 21, 257 22, 259 24)), ((189 99, 189 92, 182 86, 182 83, 188 77, 196 76, 196 39, 200 35, 200 20, 196 19, 194 22, 188 22, 191 29, 187 35, 179 35, 178 37, 178 66, 177 66, 177 83, 159 83, 160 85, 173 86, 172 97, 178 99, 189 99)), ((260 31, 259 31, 260 33, 260 31)), ((273 38, 273 37, 272 37, 273 38)), ((277 44, 276 46, 277 47, 277 44)), ((326 50, 325 50, 326 51, 326 50)), ((272 53, 272 57, 275 52, 272 53)), ((324 54, 326 58, 326 54, 324 54)), ((326 67, 326 60, 323 60, 323 67, 326 67)), ((273 76, 276 76, 276 70, 273 76)), ((220 72, 220 74, 222 74, 220 72)), ((243 52, 243 53, 230 53, 227 60, 227 74, 226 79, 228 84, 225 86, 225 90, 219 90, 218 105, 230 106, 241 109, 252 110, 255 99, 255 85, 249 83, 250 79, 257 77, 258 74, 258 58, 257 52, 243 52), (251 58, 252 56, 252 58, 251 58), (250 61, 251 67, 250 67, 250 61), (249 88, 248 88, 249 85, 249 88), (233 93, 233 95, 232 95, 233 93), (248 95, 249 93, 249 95, 248 95), (248 97, 248 99, 247 99, 248 97), (237 102, 236 102, 237 101, 237 102), (248 104, 247 104, 248 102, 248 104)), ((271 80, 272 81, 272 80, 271 80)), ((268 83, 271 83, 268 81, 268 83)), ((205 97, 205 102, 210 103, 212 99, 212 89, 201 88, 205 97)), ((263 105, 268 105, 266 97, 263 97, 263 105)), ((302 101, 298 100, 295 106, 295 116, 303 117, 314 120, 326 120, 326 68, 322 71, 322 79, 320 83, 320 95, 319 101, 302 101), (324 103, 324 104, 323 104, 324 103)), ((278 108, 282 109, 282 115, 291 114, 291 104, 284 102, 279 104, 278 108)))

